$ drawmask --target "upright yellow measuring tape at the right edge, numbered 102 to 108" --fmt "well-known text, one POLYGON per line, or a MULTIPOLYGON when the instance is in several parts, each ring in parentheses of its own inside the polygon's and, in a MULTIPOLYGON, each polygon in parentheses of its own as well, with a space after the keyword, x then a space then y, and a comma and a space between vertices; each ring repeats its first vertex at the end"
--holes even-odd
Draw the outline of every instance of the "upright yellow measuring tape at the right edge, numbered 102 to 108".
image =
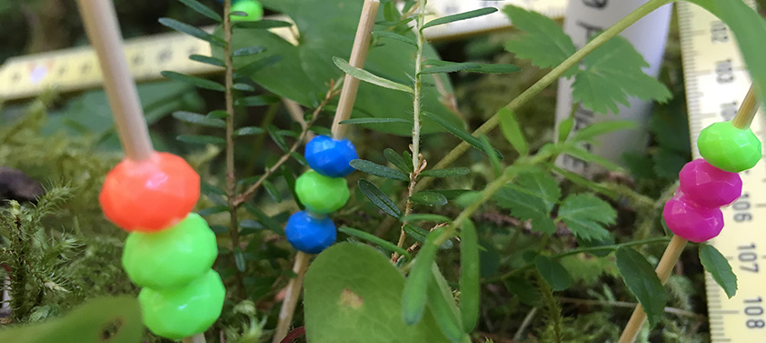
MULTIPOLYGON (((753 1, 749 1, 753 5, 753 1)), ((726 25, 697 5, 678 3, 684 84, 689 106, 691 146, 705 126, 730 120, 751 85, 734 36, 726 25)), ((766 141, 759 116, 752 130, 766 141)), ((766 166, 763 161, 741 173, 742 197, 723 208, 726 227, 711 244, 725 256, 737 275, 739 290, 727 298, 710 274, 705 275, 713 343, 766 342, 766 230, 761 215, 766 207, 766 166)))

